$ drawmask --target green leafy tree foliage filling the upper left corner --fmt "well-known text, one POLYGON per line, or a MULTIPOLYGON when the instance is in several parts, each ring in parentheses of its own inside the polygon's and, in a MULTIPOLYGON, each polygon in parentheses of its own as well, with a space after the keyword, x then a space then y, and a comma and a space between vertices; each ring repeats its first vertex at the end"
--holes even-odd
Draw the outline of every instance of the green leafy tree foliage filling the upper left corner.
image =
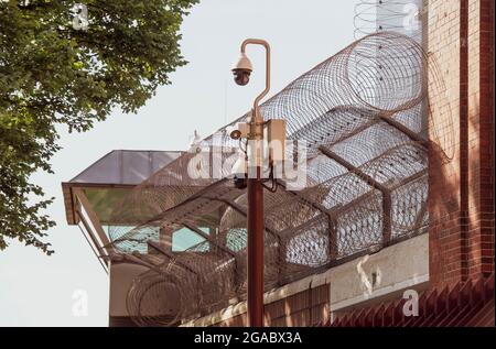
POLYGON ((53 198, 30 177, 52 172, 56 126, 89 130, 170 84, 186 63, 180 25, 196 2, 0 0, 0 250, 18 239, 53 252, 42 241, 53 198))

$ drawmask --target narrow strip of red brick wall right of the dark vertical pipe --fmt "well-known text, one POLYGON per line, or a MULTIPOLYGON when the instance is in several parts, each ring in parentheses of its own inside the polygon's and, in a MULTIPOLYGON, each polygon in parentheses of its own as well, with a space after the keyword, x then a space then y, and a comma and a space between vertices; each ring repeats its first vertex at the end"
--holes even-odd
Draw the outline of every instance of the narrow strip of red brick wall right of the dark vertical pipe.
POLYGON ((494 0, 468 1, 467 273, 494 271, 494 0))

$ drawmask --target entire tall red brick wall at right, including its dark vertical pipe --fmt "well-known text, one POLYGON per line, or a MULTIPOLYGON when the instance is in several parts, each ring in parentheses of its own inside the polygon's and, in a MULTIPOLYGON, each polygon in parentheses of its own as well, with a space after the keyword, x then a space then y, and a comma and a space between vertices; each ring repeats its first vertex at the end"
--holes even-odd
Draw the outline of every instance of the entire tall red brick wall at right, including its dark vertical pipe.
POLYGON ((433 285, 494 271, 494 0, 430 0, 430 274, 433 285), (448 155, 448 159, 446 156, 448 155))

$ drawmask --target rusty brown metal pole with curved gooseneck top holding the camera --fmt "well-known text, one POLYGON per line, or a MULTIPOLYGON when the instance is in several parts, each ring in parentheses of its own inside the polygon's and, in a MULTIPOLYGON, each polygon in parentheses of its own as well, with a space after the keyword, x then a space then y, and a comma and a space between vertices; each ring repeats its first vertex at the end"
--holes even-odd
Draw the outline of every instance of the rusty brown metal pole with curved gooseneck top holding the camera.
POLYGON ((250 327, 263 327, 263 186, 262 141, 263 117, 259 103, 270 90, 270 45, 258 39, 248 39, 241 44, 241 53, 249 44, 266 48, 266 89, 254 102, 248 146, 255 161, 255 171, 248 171, 248 323, 250 327))

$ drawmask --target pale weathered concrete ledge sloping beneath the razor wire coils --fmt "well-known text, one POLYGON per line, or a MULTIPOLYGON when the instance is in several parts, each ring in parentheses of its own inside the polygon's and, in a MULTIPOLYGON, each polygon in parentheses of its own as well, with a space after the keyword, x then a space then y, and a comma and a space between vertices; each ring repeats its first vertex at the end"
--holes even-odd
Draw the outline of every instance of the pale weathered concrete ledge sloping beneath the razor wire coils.
MULTIPOLYGON (((374 255, 366 255, 325 273, 267 292, 263 303, 271 304, 327 284, 331 312, 337 312, 427 282, 429 282, 429 235, 425 233, 391 246, 374 255)), ((184 323, 182 326, 213 326, 246 312, 246 301, 239 302, 223 310, 184 323)))

